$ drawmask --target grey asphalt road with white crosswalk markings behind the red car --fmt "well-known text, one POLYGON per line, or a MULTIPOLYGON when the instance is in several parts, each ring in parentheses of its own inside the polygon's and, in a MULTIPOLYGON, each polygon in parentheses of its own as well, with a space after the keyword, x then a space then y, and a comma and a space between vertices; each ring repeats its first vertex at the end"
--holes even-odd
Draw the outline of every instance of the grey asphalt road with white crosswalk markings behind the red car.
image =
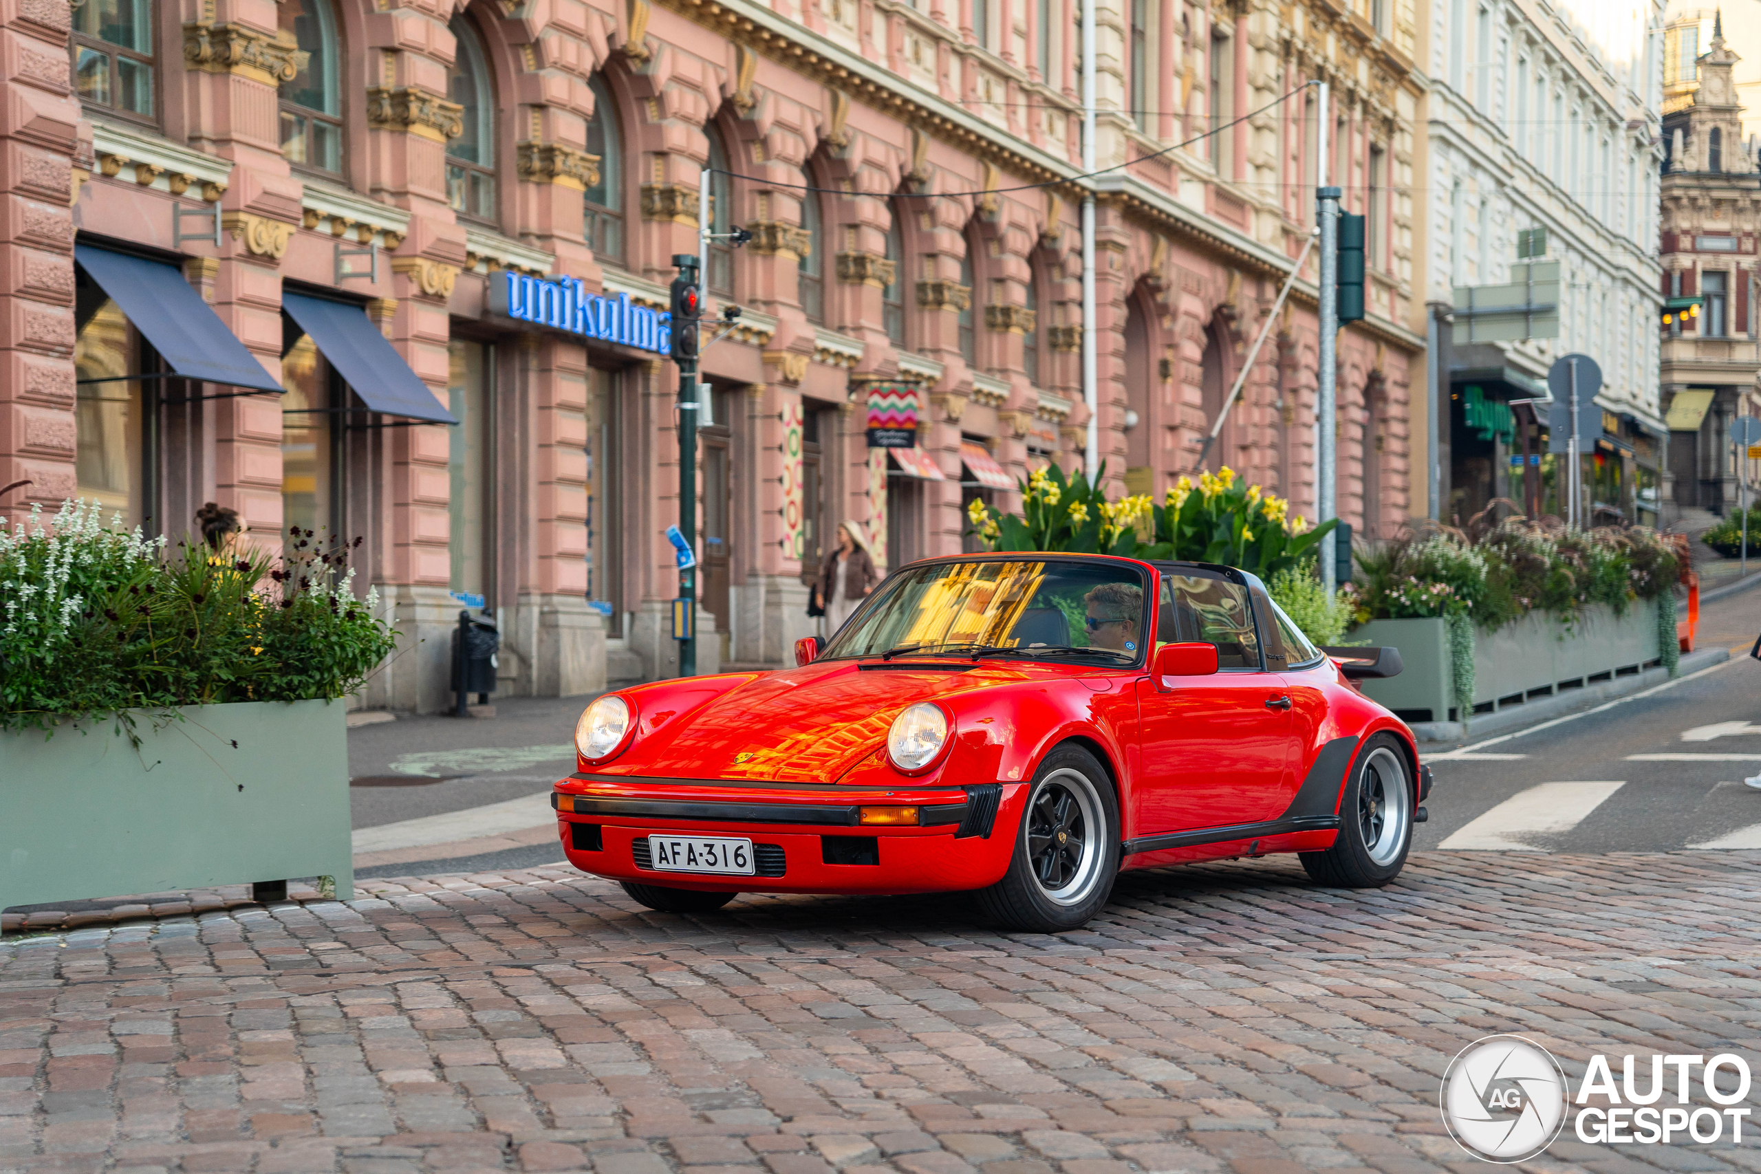
MULTIPOLYGON (((1708 604, 1699 648, 1733 660, 1645 695, 1469 739, 1426 755, 1437 789, 1416 850, 1662 852, 1761 848, 1761 588, 1708 604), (1486 743, 1492 745, 1486 745, 1486 743)), ((590 699, 512 699, 493 720, 405 718, 350 730, 356 829, 475 811, 530 797, 574 769, 574 722, 590 699)), ((453 843, 453 841, 449 841, 453 843)), ((368 864, 357 877, 502 871, 562 862, 549 841, 495 852, 368 864)))

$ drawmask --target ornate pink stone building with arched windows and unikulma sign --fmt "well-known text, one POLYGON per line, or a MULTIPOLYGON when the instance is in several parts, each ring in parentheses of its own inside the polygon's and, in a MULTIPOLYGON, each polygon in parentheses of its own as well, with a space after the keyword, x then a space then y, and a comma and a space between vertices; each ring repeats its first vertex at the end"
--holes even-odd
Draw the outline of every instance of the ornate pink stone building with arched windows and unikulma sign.
MULTIPOLYGON (((1423 340, 1402 326, 1416 88, 1395 7, 1101 0, 1097 428, 1120 488, 1194 470, 1310 229, 1298 90, 1324 76, 1335 183, 1372 218, 1338 500, 1359 532, 1407 519, 1423 340)), ((447 704, 454 591, 498 616, 504 692, 666 676, 676 371, 493 290, 569 278, 664 308, 710 165, 711 222, 752 241, 708 271, 743 315, 704 357, 699 667, 778 664, 838 523, 882 565, 958 551, 963 502, 1013 496, 998 470, 1081 463, 1074 12, 12 0, 0 484, 30 484, 4 505, 97 496, 181 533, 217 500, 262 544, 359 535, 405 634, 370 706, 447 704), (215 373, 231 340, 261 373, 215 373), (865 440, 888 394, 917 408, 903 459, 865 440)), ((1314 356, 1310 264, 1210 459, 1310 514, 1314 356)))

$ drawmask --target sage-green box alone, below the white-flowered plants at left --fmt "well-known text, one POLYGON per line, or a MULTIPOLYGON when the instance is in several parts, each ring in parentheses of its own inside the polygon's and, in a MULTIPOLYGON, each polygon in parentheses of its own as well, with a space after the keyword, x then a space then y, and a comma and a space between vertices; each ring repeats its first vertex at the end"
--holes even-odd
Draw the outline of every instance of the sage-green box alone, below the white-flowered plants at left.
POLYGON ((0 732, 0 908, 335 877, 354 896, 343 702, 0 732))

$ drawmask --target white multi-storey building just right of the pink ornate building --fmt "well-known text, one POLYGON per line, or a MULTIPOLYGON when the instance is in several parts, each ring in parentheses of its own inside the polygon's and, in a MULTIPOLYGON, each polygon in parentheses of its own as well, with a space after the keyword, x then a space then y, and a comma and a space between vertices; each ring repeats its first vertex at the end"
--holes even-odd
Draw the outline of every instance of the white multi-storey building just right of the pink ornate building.
MULTIPOLYGON (((1562 512, 1534 408, 1551 363, 1603 370, 1604 438, 1585 456, 1588 500, 1655 521, 1668 437, 1657 403, 1662 4, 1654 0, 1419 0, 1425 183, 1416 248, 1432 313, 1435 461, 1444 521, 1497 496, 1562 512), (1558 336, 1451 343, 1460 287, 1516 280, 1518 238, 1546 231, 1560 262, 1558 336), (1527 433, 1527 437, 1525 437, 1527 433), (1536 454, 1522 465, 1527 447, 1536 454)), ((1536 303, 1543 299, 1537 297, 1536 303)), ((1430 424, 1430 422, 1428 422, 1430 424)), ((1562 461, 1562 458, 1560 458, 1562 461)))

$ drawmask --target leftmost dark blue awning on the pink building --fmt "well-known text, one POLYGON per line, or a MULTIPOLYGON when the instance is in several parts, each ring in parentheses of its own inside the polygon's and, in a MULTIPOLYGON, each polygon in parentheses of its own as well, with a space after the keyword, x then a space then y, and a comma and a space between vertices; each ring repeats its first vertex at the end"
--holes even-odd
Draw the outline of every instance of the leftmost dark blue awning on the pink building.
POLYGON ((74 245, 74 260, 114 299, 173 371, 229 387, 282 391, 176 266, 74 245))

